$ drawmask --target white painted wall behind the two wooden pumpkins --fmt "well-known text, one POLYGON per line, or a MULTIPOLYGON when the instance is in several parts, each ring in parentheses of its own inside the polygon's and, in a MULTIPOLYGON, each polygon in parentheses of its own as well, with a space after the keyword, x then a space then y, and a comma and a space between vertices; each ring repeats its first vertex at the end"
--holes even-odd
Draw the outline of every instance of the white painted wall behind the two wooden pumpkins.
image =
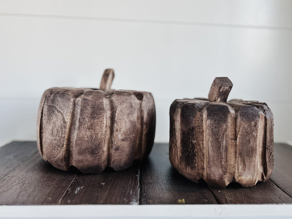
POLYGON ((36 139, 45 89, 98 87, 105 68, 113 89, 153 93, 156 142, 172 101, 206 97, 216 76, 292 141, 292 0, 0 0, 0 145, 36 139))

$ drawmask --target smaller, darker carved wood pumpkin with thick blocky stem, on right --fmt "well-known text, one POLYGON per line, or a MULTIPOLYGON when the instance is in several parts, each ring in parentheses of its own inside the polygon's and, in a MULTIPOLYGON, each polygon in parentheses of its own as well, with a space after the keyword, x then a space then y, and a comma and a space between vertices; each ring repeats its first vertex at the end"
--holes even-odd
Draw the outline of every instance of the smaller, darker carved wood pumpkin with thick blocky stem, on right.
POLYGON ((265 103, 231 100, 233 84, 215 78, 208 99, 170 107, 169 160, 183 176, 214 187, 265 182, 273 170, 273 114, 265 103))

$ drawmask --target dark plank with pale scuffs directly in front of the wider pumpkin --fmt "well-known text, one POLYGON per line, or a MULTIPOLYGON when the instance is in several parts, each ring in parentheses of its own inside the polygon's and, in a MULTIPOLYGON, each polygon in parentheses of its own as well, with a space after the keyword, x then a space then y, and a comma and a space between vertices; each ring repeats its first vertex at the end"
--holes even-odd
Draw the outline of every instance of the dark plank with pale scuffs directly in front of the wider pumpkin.
POLYGON ((139 164, 123 171, 78 174, 61 204, 138 204, 139 164))

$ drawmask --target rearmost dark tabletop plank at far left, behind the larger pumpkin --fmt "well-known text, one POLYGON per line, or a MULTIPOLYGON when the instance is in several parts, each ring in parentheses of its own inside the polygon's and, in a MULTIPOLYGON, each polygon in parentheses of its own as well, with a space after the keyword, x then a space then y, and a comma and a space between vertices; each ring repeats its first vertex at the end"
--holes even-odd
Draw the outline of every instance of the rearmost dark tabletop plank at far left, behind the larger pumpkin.
POLYGON ((0 147, 0 179, 37 153, 36 142, 11 142, 0 147))

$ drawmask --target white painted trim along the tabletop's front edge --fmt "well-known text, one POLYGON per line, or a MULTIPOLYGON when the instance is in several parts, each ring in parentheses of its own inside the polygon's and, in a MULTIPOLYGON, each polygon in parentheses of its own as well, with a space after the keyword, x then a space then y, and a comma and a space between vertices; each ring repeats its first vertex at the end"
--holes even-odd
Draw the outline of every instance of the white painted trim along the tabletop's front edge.
POLYGON ((2 205, 0 218, 292 218, 292 204, 2 205))

